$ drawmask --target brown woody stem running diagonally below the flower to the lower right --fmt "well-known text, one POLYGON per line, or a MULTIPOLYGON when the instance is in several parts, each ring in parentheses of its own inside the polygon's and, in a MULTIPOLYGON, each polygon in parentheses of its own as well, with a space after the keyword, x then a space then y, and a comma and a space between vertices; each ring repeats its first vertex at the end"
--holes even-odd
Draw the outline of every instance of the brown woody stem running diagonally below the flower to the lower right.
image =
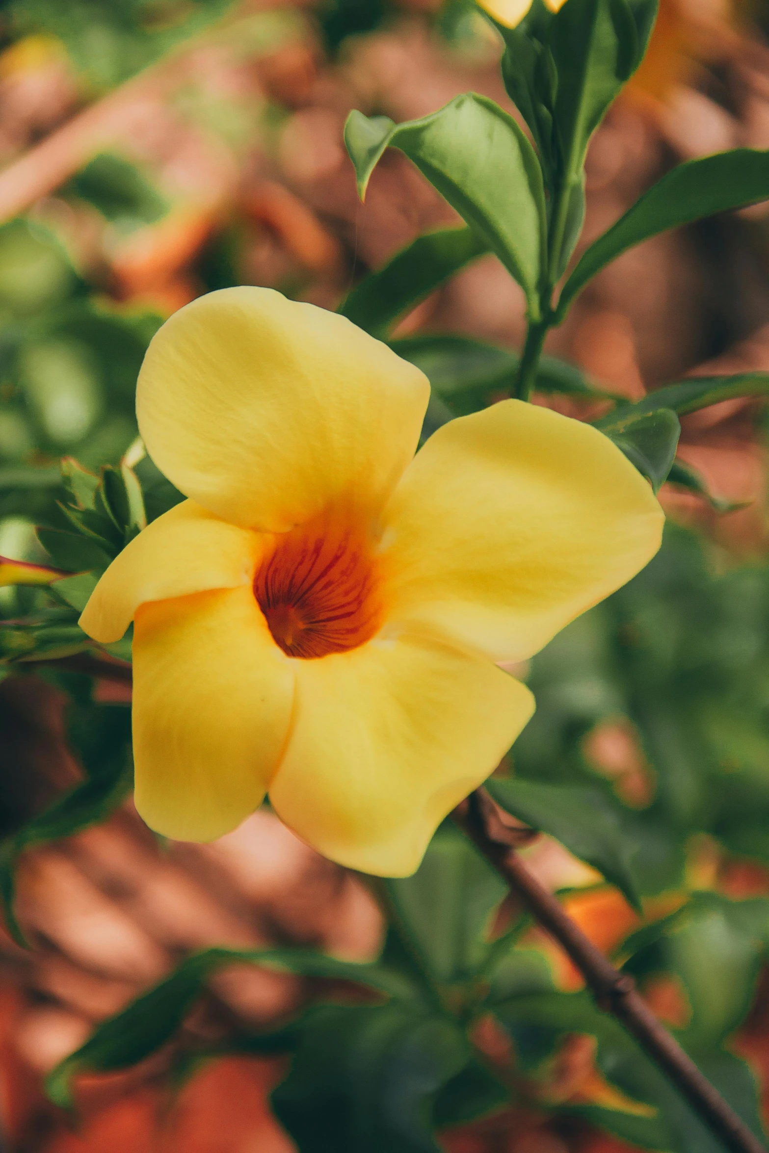
POLYGON ((615 969, 528 871, 514 847, 515 830, 505 831, 502 820, 496 817, 499 812, 485 790, 478 789, 454 809, 452 816, 571 957, 593 990, 598 1008, 621 1022, 724 1147, 731 1153, 766 1153, 757 1137, 657 1020, 639 995, 633 979, 615 969))

